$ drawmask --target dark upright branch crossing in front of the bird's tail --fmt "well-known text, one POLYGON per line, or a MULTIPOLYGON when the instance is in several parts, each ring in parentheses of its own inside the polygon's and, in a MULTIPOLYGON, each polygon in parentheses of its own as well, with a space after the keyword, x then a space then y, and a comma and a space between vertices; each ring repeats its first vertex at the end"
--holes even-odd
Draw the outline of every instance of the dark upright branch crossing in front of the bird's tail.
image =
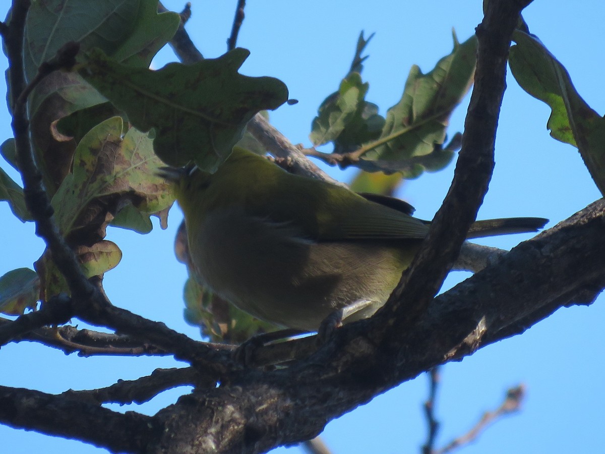
POLYGON ((402 326, 424 312, 459 254, 483 202, 494 168, 494 143, 505 90, 506 62, 521 10, 528 0, 491 1, 477 27, 477 70, 454 179, 434 217, 427 240, 374 317, 373 337, 399 344, 402 326), (388 332, 384 326, 389 326, 388 332))

